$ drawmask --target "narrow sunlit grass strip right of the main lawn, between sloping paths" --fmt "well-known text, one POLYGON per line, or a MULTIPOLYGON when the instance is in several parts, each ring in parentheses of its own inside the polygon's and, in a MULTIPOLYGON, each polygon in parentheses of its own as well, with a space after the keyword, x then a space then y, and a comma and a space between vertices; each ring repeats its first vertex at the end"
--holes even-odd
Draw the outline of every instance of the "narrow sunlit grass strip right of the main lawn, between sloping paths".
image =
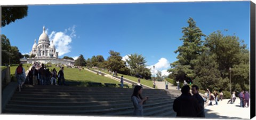
MULTIPOLYGON (((90 69, 93 69, 93 68, 90 68, 90 69)), ((95 69, 95 70, 97 70, 97 69, 95 69)), ((102 72, 104 72, 104 73, 106 73, 106 74, 109 74, 109 72, 107 71, 107 70, 102 70, 102 69, 100 69, 100 71, 102 71, 102 72)), ((122 76, 123 74, 117 74, 117 76, 122 76)), ((134 81, 134 82, 136 82, 136 83, 138 83, 138 78, 136 78, 136 77, 132 77, 132 76, 129 76, 129 75, 123 75, 124 76, 124 78, 127 78, 127 79, 130 79, 131 81, 134 81)), ((150 81, 150 80, 146 80, 146 79, 140 79, 140 83, 142 84, 142 85, 147 85, 147 86, 150 86, 150 87, 153 87, 153 81, 150 81)), ((157 87, 156 87, 157 88, 157 87)))

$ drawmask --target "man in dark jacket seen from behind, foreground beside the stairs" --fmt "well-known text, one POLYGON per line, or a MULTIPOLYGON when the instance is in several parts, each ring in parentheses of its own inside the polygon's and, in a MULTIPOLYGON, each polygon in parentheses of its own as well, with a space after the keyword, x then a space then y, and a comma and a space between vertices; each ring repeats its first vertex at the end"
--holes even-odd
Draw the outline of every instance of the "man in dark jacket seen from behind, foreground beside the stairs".
POLYGON ((189 93, 190 87, 185 85, 181 88, 182 94, 173 102, 173 110, 177 117, 197 117, 201 111, 198 101, 189 93))

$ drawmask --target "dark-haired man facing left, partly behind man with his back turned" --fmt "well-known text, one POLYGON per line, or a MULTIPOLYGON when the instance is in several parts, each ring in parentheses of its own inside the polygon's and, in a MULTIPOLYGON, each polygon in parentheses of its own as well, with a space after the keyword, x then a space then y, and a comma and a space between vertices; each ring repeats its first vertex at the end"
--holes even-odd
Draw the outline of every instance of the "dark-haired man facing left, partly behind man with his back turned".
POLYGON ((197 117, 205 117, 205 114, 204 114, 204 99, 198 93, 199 87, 197 85, 193 85, 192 88, 191 88, 191 91, 193 93, 193 97, 197 99, 198 104, 199 104, 200 109, 201 109, 201 111, 199 112, 197 117))

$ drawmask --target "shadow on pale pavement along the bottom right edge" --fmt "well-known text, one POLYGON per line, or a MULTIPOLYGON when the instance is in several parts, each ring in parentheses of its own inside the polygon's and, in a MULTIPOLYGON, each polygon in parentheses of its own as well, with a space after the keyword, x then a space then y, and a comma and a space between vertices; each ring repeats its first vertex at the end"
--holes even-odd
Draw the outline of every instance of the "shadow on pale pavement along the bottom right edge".
POLYGON ((205 118, 218 118, 218 119, 244 119, 241 117, 230 117, 230 116, 221 116, 217 113, 212 113, 213 110, 205 109, 205 118), (211 112, 211 113, 210 113, 211 112))

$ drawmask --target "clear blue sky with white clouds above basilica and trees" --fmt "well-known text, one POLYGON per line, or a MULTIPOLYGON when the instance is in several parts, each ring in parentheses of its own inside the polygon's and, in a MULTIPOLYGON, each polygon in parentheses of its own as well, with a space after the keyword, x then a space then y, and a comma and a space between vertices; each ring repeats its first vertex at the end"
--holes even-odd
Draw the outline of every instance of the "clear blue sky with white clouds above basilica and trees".
POLYGON ((93 55, 109 56, 109 50, 142 54, 147 65, 166 73, 182 45, 182 27, 189 17, 205 35, 228 29, 250 45, 250 1, 183 2, 80 5, 30 5, 28 16, 1 29, 18 46, 29 53, 45 26, 50 39, 63 56, 85 59, 93 55))

